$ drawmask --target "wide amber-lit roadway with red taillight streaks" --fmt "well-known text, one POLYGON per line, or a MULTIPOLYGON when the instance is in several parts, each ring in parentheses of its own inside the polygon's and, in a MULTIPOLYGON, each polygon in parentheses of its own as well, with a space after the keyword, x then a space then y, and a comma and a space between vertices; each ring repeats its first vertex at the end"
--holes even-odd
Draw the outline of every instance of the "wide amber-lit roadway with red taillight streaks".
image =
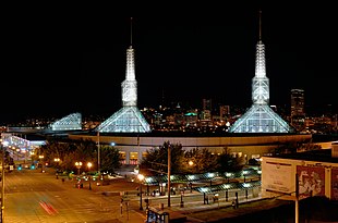
MULTIPOLYGON (((137 201, 120 207, 120 196, 104 196, 105 186, 58 179, 52 170, 13 171, 5 174, 4 223, 144 222, 137 201), (48 172, 50 171, 50 173, 48 172)), ((134 187, 134 185, 130 185, 134 187)), ((135 187, 134 187, 135 188, 135 187)), ((128 189, 128 188, 126 188, 128 189)))

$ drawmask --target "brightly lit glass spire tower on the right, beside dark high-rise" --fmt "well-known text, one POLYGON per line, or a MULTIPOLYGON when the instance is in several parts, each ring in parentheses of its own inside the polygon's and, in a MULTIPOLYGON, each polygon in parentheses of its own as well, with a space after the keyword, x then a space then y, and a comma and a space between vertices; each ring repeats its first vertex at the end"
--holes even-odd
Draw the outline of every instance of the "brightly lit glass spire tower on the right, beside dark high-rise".
POLYGON ((262 41, 259 12, 259 40, 256 45, 255 76, 252 79, 252 107, 229 128, 230 133, 290 133, 289 124, 271 110, 269 79, 265 70, 265 46, 262 41))

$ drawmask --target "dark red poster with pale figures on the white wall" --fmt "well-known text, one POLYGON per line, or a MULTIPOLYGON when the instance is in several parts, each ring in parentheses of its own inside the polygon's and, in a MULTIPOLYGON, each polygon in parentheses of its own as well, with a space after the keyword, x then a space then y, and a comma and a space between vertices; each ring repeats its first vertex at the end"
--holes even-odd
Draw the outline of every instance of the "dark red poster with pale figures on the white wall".
POLYGON ((297 166, 299 198, 325 196, 325 169, 323 166, 297 166))

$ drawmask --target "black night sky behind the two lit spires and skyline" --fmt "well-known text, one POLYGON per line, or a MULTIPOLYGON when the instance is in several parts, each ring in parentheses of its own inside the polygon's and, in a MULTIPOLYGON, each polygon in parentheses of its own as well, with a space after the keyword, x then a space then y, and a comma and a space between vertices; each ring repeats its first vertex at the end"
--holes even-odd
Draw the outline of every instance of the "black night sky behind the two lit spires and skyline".
MULTIPOLYGON (((259 9, 270 104, 288 104, 292 88, 305 90, 309 106, 336 104, 335 8, 255 5, 133 16, 138 108, 157 107, 162 98, 182 106, 200 107, 202 98, 251 104, 259 9)), ((121 108, 131 22, 102 14, 14 13, 9 18, 1 123, 73 112, 111 115, 121 108)))

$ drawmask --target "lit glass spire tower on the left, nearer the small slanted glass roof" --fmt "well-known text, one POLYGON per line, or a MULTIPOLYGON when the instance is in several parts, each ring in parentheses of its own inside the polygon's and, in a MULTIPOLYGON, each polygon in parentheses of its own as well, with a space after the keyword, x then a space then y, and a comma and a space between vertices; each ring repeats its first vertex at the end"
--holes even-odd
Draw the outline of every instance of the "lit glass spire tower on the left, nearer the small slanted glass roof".
MULTIPOLYGON (((131 20, 132 22, 132 20, 131 20)), ((137 109, 137 82, 135 79, 134 49, 131 45, 126 50, 125 79, 122 87, 122 108, 104 121, 98 127, 99 133, 147 133, 150 126, 137 109)))

